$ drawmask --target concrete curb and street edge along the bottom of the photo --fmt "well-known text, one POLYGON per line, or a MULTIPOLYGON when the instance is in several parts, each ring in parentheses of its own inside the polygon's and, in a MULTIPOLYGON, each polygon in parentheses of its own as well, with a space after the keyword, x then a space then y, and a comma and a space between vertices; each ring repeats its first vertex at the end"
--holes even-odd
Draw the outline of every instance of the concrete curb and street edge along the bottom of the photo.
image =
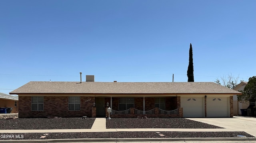
POLYGON ((255 137, 220 137, 220 138, 112 138, 112 139, 34 139, 34 140, 0 140, 0 143, 76 143, 76 142, 150 142, 150 141, 196 141, 196 142, 240 142, 240 143, 256 143, 255 137))

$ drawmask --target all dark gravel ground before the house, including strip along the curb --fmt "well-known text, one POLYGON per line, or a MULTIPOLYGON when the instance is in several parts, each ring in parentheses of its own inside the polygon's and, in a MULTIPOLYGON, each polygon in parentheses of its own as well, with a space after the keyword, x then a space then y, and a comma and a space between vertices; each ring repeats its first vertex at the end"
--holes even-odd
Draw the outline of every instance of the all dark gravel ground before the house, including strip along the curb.
MULTIPOLYGON (((90 129, 95 118, 17 118, 0 119, 0 129, 90 129)), ((221 128, 184 118, 112 118, 106 120, 107 128, 221 128)), ((0 133, 6 139, 78 139, 78 138, 184 138, 184 137, 236 137, 245 132, 94 132, 94 133, 0 133)))

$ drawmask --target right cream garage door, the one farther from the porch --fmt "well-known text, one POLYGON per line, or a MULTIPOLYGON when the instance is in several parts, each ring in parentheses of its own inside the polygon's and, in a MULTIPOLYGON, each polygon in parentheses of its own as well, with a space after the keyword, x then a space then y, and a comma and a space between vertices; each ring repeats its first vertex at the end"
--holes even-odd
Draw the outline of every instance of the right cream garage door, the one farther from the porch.
POLYGON ((229 117, 228 99, 228 97, 208 97, 206 102, 207 117, 229 117))

